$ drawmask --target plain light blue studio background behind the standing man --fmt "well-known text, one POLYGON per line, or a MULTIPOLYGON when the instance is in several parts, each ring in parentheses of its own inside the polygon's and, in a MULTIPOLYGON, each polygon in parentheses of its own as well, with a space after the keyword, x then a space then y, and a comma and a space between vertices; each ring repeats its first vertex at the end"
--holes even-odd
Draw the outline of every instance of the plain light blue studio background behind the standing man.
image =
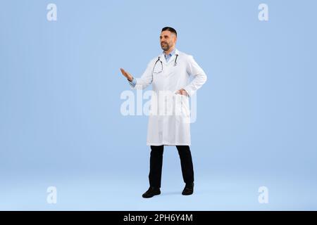
POLYGON ((0 210, 317 210, 316 1, 0 5, 0 210), (162 194, 144 199, 147 117, 120 114, 119 68, 142 75, 166 25, 209 78, 192 124, 195 193, 180 194, 166 147, 162 194))

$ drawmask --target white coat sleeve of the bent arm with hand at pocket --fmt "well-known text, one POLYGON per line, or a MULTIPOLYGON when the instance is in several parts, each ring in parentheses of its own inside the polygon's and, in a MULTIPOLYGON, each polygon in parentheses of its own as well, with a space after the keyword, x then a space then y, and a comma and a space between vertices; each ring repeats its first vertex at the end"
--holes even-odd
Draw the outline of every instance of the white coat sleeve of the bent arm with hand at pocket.
POLYGON ((184 89, 189 96, 192 96, 206 82, 207 76, 192 56, 188 57, 187 72, 194 76, 194 79, 184 89))

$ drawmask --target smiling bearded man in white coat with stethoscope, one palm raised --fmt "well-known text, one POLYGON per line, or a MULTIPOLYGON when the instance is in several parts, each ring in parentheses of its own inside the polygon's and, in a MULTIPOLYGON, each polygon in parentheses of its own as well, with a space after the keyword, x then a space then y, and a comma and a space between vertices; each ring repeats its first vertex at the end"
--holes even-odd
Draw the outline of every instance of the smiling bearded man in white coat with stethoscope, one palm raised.
POLYGON ((182 195, 194 192, 194 169, 189 149, 189 97, 206 82, 206 74, 192 56, 175 49, 177 32, 172 27, 161 30, 163 54, 147 65, 140 78, 134 78, 122 68, 132 89, 145 89, 152 84, 151 113, 147 145, 151 146, 149 189, 142 195, 151 198, 161 194, 163 146, 176 146, 180 155, 185 188, 182 195), (193 76, 192 82, 189 77, 193 76), (163 94, 163 95, 162 95, 163 94), (167 114, 167 110, 169 113, 167 114))

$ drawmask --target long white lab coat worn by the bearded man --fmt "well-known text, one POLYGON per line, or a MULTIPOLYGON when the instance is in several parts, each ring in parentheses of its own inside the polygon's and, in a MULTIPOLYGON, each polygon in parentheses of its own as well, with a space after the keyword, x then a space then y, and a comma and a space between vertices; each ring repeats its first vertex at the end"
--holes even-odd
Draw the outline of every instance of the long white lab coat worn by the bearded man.
POLYGON ((168 60, 162 53, 152 59, 143 75, 136 78, 132 89, 145 89, 152 84, 151 113, 147 129, 147 146, 189 146, 190 111, 189 97, 206 82, 206 74, 192 56, 175 50, 168 60), (175 57, 178 55, 177 64, 175 57), (163 64, 156 60, 160 57, 163 64), (154 64, 155 68, 154 68, 154 64), (191 82, 189 77, 194 76, 191 82), (185 89, 188 96, 175 94, 185 89), (162 107, 163 106, 163 107, 162 107))

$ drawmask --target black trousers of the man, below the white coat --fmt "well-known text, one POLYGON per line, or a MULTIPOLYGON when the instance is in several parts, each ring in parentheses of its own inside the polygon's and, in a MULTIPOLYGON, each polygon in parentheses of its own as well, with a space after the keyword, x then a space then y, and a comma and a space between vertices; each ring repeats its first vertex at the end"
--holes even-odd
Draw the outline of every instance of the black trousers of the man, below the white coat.
MULTIPOLYGON (((194 182, 194 169, 189 146, 176 146, 176 148, 178 155, 180 155, 182 178, 186 184, 192 183, 194 182)), ((156 188, 161 188, 163 149, 164 146, 151 146, 149 184, 156 188)))

